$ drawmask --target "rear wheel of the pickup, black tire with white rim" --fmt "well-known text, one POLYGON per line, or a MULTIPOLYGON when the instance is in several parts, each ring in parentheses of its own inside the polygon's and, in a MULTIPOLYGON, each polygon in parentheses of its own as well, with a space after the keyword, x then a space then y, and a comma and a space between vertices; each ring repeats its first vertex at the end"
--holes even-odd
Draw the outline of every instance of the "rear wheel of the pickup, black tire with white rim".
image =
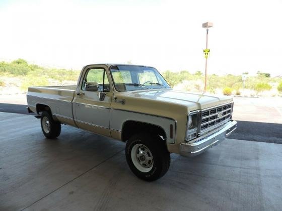
POLYGON ((61 133, 61 123, 54 121, 50 113, 42 112, 41 129, 44 136, 48 139, 55 139, 61 133))

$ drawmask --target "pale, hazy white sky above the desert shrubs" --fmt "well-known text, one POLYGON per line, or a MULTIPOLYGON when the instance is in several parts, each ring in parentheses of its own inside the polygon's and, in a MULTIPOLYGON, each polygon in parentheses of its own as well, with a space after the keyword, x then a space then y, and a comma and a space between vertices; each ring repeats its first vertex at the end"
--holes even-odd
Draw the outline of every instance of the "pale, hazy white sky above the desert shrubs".
POLYGON ((0 60, 81 69, 93 63, 208 74, 282 75, 282 0, 0 0, 0 60))

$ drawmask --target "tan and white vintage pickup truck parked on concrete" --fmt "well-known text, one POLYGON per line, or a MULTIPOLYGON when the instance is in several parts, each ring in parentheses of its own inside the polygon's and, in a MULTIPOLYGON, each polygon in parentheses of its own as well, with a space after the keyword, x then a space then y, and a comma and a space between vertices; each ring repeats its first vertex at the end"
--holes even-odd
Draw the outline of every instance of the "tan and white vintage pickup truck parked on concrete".
POLYGON ((199 155, 237 127, 232 97, 173 90, 149 66, 87 65, 76 86, 29 87, 27 102, 48 139, 66 124, 125 142, 129 168, 147 181, 168 171, 171 153, 199 155))

